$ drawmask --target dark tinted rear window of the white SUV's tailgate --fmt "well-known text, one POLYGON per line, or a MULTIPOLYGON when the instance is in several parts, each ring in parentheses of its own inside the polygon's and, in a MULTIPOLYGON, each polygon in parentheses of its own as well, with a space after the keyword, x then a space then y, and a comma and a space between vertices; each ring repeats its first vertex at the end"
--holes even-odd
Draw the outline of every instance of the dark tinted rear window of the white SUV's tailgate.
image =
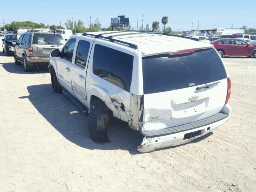
POLYGON ((227 78, 222 61, 214 49, 197 50, 185 56, 168 56, 142 58, 144 94, 198 86, 227 78))

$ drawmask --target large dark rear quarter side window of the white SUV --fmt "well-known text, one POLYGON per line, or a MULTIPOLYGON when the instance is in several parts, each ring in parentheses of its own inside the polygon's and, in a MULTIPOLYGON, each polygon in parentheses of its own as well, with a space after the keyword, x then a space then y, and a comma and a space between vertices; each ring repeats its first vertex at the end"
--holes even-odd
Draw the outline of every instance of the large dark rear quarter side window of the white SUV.
POLYGON ((96 44, 93 55, 93 73, 130 92, 133 56, 96 44))

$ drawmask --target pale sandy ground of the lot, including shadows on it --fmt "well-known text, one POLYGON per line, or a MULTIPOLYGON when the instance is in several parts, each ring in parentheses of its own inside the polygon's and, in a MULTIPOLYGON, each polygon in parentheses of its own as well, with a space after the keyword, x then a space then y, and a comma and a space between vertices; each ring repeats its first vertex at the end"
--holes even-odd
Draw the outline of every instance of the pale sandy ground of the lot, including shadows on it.
POLYGON ((224 62, 230 120, 189 144, 140 154, 142 136, 128 126, 112 126, 110 144, 92 142, 88 116, 52 91, 47 68, 24 72, 1 52, 0 191, 255 192, 256 59, 224 62))

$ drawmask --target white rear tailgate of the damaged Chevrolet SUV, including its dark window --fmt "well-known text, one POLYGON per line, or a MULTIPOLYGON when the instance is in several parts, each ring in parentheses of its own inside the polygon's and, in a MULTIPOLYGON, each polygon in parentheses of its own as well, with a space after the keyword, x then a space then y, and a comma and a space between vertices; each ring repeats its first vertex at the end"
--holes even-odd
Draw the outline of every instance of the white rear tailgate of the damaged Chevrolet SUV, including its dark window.
POLYGON ((142 132, 198 121, 220 112, 227 74, 216 50, 142 59, 144 125, 142 132), (200 88, 205 84, 212 84, 200 88))

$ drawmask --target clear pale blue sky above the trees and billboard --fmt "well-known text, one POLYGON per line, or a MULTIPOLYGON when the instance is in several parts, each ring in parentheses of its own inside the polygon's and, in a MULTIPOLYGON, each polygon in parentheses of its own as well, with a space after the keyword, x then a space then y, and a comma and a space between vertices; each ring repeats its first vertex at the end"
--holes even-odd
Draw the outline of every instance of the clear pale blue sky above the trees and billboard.
MULTIPOLYGON (((256 0, 250 0, 253 7, 256 0)), ((98 18, 102 27, 110 25, 110 18, 117 15, 125 15, 130 18, 132 27, 136 29, 142 24, 144 14, 144 26, 153 21, 160 22, 162 28, 162 16, 168 16, 166 25, 173 30, 191 30, 194 28, 231 27, 240 28, 243 25, 249 28, 256 26, 254 8, 248 7, 241 0, 206 0, 206 1, 172 1, 172 0, 3 0, 0 4, 0 26, 12 21, 31 20, 36 23, 55 24, 62 26, 68 18, 74 15, 74 20, 82 19, 84 26, 88 27, 90 16, 92 22, 98 18)))

